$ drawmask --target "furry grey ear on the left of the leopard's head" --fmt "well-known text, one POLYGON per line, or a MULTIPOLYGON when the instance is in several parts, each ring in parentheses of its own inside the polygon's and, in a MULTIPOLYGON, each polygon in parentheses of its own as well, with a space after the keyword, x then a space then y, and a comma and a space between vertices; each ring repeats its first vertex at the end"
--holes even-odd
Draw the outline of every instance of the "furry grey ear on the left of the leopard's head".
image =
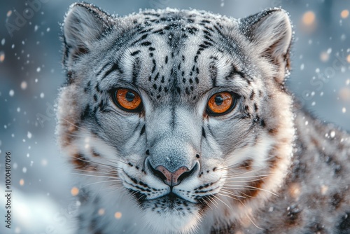
POLYGON ((113 18, 91 4, 71 5, 64 18, 64 65, 71 64, 80 55, 89 53, 95 41, 111 29, 113 18))

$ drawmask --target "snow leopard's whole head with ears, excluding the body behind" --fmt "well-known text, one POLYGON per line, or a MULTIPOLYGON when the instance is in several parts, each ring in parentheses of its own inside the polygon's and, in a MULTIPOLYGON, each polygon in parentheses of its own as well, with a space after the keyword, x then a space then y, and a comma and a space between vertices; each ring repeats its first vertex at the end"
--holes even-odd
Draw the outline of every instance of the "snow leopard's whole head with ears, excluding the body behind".
POLYGON ((281 10, 239 21, 73 6, 58 135, 83 186, 161 233, 251 212, 291 155, 290 34, 281 10))

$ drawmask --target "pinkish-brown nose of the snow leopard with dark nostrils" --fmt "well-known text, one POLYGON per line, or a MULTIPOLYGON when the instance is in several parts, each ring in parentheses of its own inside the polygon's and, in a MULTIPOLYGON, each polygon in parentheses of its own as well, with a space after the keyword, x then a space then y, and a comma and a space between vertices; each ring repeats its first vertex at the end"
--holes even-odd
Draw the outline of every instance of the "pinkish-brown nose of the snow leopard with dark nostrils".
POLYGON ((174 172, 169 172, 169 170, 162 165, 153 168, 151 163, 148 163, 148 167, 151 169, 151 172, 153 172, 156 177, 162 179, 165 184, 171 187, 180 184, 183 179, 190 177, 195 171, 196 166, 197 165, 195 165, 192 170, 189 170, 188 167, 180 167, 174 172))

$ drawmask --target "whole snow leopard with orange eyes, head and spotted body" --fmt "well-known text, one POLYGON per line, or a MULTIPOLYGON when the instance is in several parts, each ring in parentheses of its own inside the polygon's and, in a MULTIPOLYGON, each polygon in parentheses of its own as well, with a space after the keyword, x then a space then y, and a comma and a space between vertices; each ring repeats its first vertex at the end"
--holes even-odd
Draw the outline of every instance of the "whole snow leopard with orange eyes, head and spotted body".
POLYGON ((282 8, 122 17, 80 2, 62 34, 76 233, 350 233, 350 137, 288 90, 282 8))

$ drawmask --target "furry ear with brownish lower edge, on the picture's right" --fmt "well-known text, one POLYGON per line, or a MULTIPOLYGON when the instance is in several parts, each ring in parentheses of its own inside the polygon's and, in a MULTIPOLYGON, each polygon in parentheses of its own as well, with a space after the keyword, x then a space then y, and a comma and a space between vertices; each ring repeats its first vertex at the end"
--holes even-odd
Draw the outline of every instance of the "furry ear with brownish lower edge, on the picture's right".
POLYGON ((292 41, 288 13, 281 8, 265 10, 241 19, 239 29, 255 44, 257 53, 276 65, 279 74, 283 72, 283 76, 278 78, 280 83, 283 82, 284 73, 290 68, 289 50, 292 41))

